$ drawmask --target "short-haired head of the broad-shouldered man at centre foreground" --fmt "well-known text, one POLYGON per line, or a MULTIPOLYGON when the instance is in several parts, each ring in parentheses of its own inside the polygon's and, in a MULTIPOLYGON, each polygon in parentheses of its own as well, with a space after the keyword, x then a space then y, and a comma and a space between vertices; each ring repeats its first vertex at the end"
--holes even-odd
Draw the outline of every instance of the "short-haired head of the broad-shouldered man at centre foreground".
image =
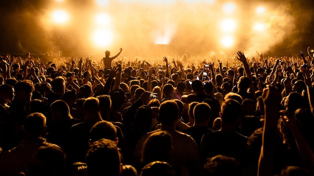
POLYGON ((166 100, 159 106, 159 117, 162 124, 172 125, 179 118, 179 107, 176 101, 166 100))

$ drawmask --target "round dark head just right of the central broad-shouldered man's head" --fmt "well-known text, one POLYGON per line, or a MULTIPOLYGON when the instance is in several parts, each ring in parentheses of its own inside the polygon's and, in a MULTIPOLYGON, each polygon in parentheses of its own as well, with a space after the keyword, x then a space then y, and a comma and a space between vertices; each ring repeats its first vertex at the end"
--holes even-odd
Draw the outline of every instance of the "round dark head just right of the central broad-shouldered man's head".
POLYGON ((196 123, 208 123, 211 116, 211 107, 205 102, 198 103, 194 107, 193 114, 196 123))

